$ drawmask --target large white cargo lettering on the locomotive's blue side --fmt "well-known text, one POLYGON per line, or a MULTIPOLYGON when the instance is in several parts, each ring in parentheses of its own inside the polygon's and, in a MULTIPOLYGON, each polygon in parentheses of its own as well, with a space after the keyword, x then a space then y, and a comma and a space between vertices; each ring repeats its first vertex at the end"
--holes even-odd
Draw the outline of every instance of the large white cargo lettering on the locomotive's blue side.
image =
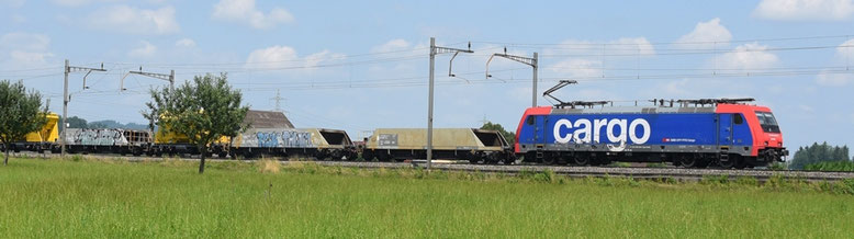
POLYGON ((606 128, 608 141, 614 144, 628 143, 629 140, 627 139, 630 139, 632 144, 641 145, 647 143, 652 134, 650 123, 643 118, 636 118, 631 123, 628 123, 628 120, 619 118, 602 118, 593 120, 593 122, 580 118, 575 121, 575 124, 570 120, 561 118, 554 123, 554 141, 559 144, 566 144, 570 140, 576 144, 599 143, 603 127, 606 128), (636 134, 638 127, 642 129, 640 135, 636 134), (575 130, 571 134, 561 134, 561 128, 575 128, 575 130), (617 134, 615 134, 615 128, 618 129, 617 134))

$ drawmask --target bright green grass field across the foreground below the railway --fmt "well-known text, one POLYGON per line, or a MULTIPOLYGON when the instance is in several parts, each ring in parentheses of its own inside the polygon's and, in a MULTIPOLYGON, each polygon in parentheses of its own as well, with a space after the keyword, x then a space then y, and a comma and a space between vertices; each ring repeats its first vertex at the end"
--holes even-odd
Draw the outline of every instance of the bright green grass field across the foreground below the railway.
POLYGON ((11 159, 4 238, 852 238, 854 196, 313 164, 11 159), (266 172, 260 171, 266 169, 266 172))

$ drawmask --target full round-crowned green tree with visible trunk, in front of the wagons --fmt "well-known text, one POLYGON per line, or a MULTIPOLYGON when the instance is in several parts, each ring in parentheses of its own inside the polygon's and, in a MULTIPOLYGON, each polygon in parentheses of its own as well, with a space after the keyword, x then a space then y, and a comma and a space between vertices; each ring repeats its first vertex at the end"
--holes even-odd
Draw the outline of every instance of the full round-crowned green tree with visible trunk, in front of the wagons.
POLYGON ((161 129, 186 135, 200 151, 199 173, 211 144, 223 136, 235 136, 241 129, 248 106, 241 106, 243 94, 233 90, 227 76, 196 76, 193 82, 170 90, 151 89, 151 102, 143 116, 161 129))

